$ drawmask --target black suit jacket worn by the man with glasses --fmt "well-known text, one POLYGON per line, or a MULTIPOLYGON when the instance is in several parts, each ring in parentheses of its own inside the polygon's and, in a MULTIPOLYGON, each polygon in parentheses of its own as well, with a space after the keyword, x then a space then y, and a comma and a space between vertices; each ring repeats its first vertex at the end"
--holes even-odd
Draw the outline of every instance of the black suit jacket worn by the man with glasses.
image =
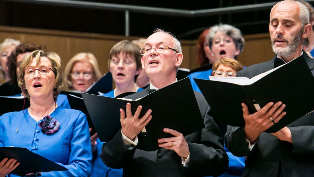
MULTIPOLYGON (((137 99, 149 94, 149 88, 127 96, 137 99)), ((204 119, 205 128, 185 136, 190 149, 190 162, 183 167, 181 157, 175 151, 160 148, 157 151, 143 151, 137 148, 127 150, 121 130, 103 145, 100 157, 111 168, 123 168, 123 176, 218 176, 228 167, 228 156, 224 150, 219 128, 209 115, 210 108, 203 95, 195 92, 198 106, 204 119)), ((138 138, 145 133, 138 134, 138 138)), ((145 138, 141 139, 145 141, 145 138)))

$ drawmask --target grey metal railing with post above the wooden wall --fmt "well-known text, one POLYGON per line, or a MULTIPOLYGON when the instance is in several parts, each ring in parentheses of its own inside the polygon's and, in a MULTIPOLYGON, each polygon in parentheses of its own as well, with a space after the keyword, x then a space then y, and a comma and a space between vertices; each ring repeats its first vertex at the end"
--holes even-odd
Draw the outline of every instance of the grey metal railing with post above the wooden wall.
MULTIPOLYGON (((32 3, 32 4, 46 4, 66 6, 72 8, 85 8, 85 9, 102 9, 102 10, 116 10, 125 12, 125 35, 129 36, 129 12, 137 12, 141 14, 159 14, 159 15, 171 15, 181 17, 201 17, 212 16, 221 14, 232 14, 241 12, 252 12, 260 10, 268 10, 273 7, 277 2, 271 3, 258 3, 250 5, 232 6, 232 7, 219 7, 214 9, 202 9, 202 10, 183 10, 183 9, 170 9, 170 8, 156 8, 147 6, 136 5, 123 5, 112 3, 97 3, 87 1, 75 1, 75 0, 0 0, 13 3, 32 3)), ((307 2, 314 2, 314 0, 308 0, 307 2)))

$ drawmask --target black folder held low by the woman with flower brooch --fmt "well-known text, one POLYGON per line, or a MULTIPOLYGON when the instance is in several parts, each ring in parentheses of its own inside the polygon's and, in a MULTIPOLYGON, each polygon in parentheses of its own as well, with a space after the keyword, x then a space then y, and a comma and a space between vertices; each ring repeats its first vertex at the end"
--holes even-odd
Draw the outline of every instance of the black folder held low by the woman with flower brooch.
POLYGON ((68 170, 24 147, 0 147, 0 159, 5 157, 9 159, 14 158, 20 163, 19 166, 10 173, 18 176, 25 176, 26 174, 37 172, 68 170))

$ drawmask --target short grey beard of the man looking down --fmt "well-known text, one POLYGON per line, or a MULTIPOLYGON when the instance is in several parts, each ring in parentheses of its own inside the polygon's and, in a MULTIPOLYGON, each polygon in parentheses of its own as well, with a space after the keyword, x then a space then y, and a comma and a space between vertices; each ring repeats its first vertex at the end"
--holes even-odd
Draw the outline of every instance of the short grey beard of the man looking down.
POLYGON ((301 42, 303 34, 303 28, 300 30, 299 34, 292 40, 291 43, 287 43, 285 48, 275 47, 274 41, 272 41, 272 49, 273 52, 279 56, 288 57, 295 53, 296 48, 299 46, 301 42))

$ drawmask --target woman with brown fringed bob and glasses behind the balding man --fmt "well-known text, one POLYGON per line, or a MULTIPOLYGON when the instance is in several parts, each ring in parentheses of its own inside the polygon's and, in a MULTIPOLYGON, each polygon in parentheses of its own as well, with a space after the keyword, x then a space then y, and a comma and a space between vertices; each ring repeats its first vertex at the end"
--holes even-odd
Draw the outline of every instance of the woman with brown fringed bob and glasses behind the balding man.
MULTIPOLYGON (((109 57, 108 67, 112 74, 112 79, 115 81, 116 88, 102 96, 116 97, 126 92, 142 91, 143 89, 136 85, 136 77, 141 67, 142 58, 139 46, 128 40, 122 40, 112 47, 109 57)), ((103 143, 99 139, 95 143, 96 150, 94 152, 91 177, 121 177, 122 169, 109 168, 100 159, 103 143)))

